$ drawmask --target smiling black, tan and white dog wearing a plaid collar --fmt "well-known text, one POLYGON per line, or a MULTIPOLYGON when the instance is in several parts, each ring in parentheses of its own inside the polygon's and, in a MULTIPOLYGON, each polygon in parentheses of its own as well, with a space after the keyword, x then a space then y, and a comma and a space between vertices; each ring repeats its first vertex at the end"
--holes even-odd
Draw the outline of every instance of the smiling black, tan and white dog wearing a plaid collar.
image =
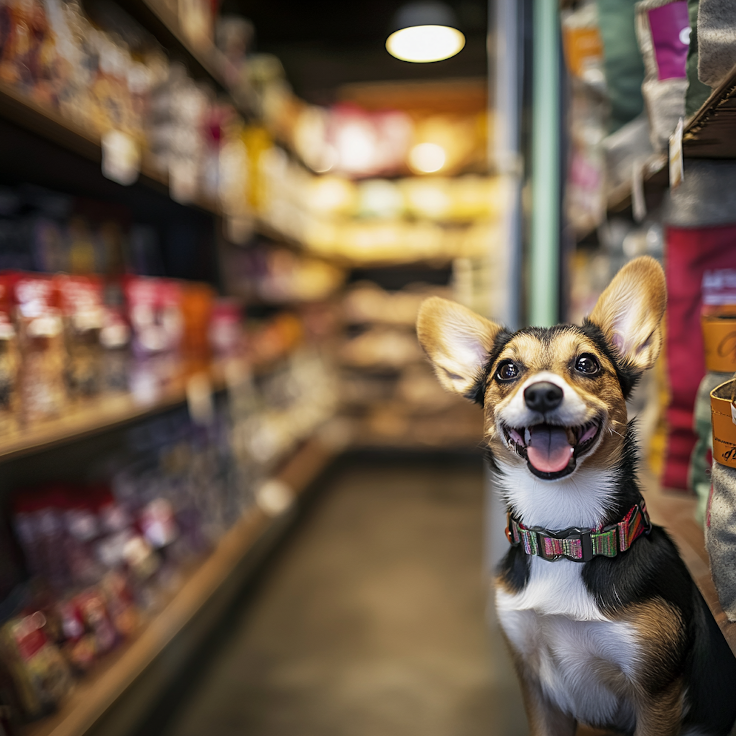
POLYGON ((509 521, 496 609, 533 736, 717 736, 736 720, 736 658, 637 482, 626 399, 666 302, 645 256, 581 326, 511 333, 439 297, 420 307, 439 382, 484 408, 509 521))

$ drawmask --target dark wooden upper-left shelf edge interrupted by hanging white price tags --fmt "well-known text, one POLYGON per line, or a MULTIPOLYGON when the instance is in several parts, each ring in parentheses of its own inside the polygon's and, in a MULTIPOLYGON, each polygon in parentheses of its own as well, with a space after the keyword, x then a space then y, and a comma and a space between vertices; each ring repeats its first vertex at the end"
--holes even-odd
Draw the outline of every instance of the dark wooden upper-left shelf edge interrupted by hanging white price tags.
MULTIPOLYGON (((0 82, 0 116, 46 138, 47 141, 95 163, 102 163, 99 135, 60 115, 56 110, 39 105, 7 82, 0 82)), ((158 191, 159 194, 169 194, 169 177, 150 166, 145 158, 141 164, 138 183, 158 191)), ((219 214, 216 202, 200 197, 191 204, 206 212, 219 214)))

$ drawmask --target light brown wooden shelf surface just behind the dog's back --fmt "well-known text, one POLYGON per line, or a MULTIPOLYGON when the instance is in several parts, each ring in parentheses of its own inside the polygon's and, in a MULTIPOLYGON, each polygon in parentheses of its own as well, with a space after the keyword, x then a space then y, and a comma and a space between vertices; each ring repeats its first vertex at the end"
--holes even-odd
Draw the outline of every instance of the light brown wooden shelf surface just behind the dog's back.
POLYGON ((670 533, 693 576, 713 618, 723 631, 723 636, 736 655, 736 623, 731 623, 718 601, 710 576, 708 553, 705 551, 703 530, 695 520, 696 498, 682 492, 667 492, 654 478, 643 478, 647 509, 651 520, 670 533))

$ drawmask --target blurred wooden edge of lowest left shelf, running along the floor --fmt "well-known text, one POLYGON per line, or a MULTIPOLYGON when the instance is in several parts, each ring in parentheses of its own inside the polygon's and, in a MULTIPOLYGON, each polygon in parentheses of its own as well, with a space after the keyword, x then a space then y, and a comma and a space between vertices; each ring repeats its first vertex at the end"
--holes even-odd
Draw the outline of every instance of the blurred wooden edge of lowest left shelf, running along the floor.
MULTIPOLYGON (((334 451, 309 439, 275 474, 299 496, 333 460, 334 451)), ((236 569, 275 518, 254 507, 222 537, 212 553, 185 575, 183 584, 126 644, 102 659, 54 715, 31 723, 21 736, 82 736, 236 569)))

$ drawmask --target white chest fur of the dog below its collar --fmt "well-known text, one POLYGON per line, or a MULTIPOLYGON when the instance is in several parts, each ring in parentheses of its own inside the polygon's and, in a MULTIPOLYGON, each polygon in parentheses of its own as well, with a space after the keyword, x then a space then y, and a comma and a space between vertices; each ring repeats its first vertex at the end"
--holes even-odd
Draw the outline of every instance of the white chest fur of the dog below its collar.
POLYGON ((531 558, 528 584, 517 595, 498 590, 500 624, 547 698, 583 723, 633 727, 627 698, 606 681, 615 670, 629 679, 637 657, 636 631, 598 609, 571 560, 531 558), (600 665, 604 664, 604 667, 600 665))

